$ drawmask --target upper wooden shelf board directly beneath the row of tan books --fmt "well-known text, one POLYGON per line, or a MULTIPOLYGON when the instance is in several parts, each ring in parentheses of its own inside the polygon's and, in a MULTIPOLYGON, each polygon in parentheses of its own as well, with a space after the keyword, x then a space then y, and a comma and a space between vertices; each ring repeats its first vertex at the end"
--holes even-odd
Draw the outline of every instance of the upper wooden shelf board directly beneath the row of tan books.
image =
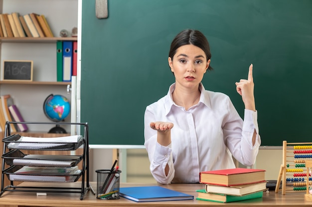
POLYGON ((77 37, 0 37, 0 42, 53 43, 56 41, 77 41, 77 37))

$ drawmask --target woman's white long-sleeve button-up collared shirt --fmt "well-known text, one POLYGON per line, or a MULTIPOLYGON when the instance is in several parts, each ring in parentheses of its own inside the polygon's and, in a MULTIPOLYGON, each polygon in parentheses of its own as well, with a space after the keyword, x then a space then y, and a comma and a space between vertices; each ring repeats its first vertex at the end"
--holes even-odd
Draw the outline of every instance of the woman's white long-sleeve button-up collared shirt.
POLYGON ((201 171, 235 168, 232 155, 246 166, 255 163, 261 144, 257 112, 245 109, 243 121, 227 95, 205 90, 202 84, 198 104, 186 111, 173 102, 174 88, 175 83, 145 111, 145 146, 157 182, 198 183, 201 171), (156 121, 174 124, 168 146, 157 142, 157 131, 150 127, 156 121))

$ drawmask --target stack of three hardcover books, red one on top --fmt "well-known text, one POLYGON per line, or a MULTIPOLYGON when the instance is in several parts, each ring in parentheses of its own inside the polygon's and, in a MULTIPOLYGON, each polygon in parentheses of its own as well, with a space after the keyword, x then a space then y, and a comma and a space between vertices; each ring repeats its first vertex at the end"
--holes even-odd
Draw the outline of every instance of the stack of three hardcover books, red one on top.
POLYGON ((234 168, 226 170, 203 171, 199 182, 205 189, 197 190, 197 200, 229 203, 262 198, 267 190, 265 170, 234 168))

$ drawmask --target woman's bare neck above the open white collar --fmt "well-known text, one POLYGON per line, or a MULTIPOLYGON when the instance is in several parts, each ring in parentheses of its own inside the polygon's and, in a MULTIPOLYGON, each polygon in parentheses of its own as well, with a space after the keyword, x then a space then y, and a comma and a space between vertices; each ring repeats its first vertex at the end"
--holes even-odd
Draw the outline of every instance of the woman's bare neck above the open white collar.
POLYGON ((199 87, 180 88, 175 87, 172 93, 173 102, 185 108, 187 111, 190 107, 196 105, 200 99, 199 87))

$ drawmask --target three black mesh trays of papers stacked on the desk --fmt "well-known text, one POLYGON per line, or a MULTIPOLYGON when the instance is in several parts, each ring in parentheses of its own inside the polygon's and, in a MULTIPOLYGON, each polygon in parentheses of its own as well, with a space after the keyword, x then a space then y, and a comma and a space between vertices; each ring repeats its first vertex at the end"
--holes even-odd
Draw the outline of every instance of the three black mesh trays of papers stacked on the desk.
POLYGON ((11 135, 3 139, 10 149, 2 155, 10 165, 3 171, 10 181, 76 182, 82 171, 76 166, 82 155, 24 154, 20 150, 76 150, 84 142, 82 136, 33 138, 11 135))

